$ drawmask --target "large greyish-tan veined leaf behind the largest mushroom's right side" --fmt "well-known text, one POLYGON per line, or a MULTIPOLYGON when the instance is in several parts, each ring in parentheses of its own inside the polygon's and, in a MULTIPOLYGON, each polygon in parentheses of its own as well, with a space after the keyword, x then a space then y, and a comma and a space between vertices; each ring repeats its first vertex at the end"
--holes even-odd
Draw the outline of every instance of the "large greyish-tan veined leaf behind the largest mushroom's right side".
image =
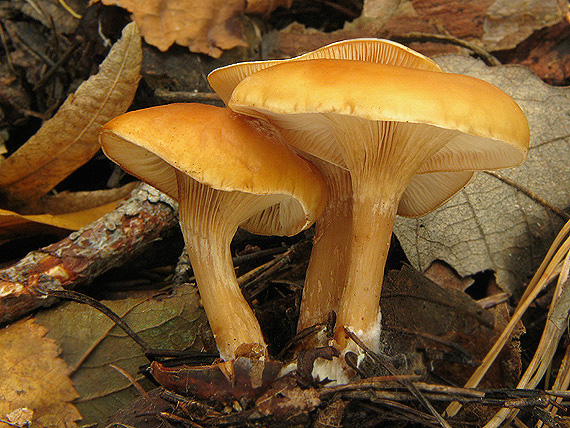
MULTIPOLYGON (((453 55, 437 62, 446 71, 487 80, 519 103, 531 130, 529 157, 522 166, 500 174, 559 210, 567 208, 570 89, 546 85, 523 67, 489 68, 453 55)), ((436 259, 461 276, 491 269, 499 286, 512 293, 536 270, 563 220, 496 176, 477 173, 446 205, 418 219, 399 219, 395 231, 420 270, 436 259)))

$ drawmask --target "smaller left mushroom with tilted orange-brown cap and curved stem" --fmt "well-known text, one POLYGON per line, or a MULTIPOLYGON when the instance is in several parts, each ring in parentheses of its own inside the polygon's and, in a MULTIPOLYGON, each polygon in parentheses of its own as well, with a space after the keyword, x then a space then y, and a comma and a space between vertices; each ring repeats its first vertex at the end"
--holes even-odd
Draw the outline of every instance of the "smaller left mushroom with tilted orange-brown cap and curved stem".
POLYGON ((267 355, 237 283, 230 242, 238 226, 293 235, 324 209, 326 184, 268 123, 203 104, 121 115, 100 132, 105 154, 179 202, 180 224, 220 356, 267 355))

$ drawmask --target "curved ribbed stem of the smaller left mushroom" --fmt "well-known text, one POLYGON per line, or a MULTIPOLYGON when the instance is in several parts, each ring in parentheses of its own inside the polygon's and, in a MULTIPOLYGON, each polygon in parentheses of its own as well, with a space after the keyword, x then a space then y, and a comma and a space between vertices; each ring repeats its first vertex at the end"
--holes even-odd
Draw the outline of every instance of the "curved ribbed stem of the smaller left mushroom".
POLYGON ((235 276, 230 242, 243 217, 268 202, 259 208, 259 198, 217 191, 178 172, 177 180, 182 234, 220 357, 266 356, 259 322, 235 276))

